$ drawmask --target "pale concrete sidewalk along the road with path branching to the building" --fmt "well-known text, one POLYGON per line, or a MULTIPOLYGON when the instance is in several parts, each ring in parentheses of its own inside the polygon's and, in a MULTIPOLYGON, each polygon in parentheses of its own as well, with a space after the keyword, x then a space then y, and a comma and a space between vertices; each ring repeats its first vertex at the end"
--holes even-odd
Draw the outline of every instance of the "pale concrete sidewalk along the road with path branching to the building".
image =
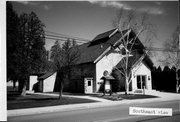
MULTIPOLYGON (((34 93, 34 94, 58 96, 58 94, 50 94, 50 93, 34 93)), ((101 98, 96 98, 96 97, 91 97, 91 96, 63 95, 67 97, 69 96, 69 97, 76 97, 76 98, 91 99, 91 100, 96 100, 99 102, 8 110, 7 116, 12 117, 12 116, 33 115, 33 114, 41 114, 41 113, 49 113, 49 112, 74 111, 74 110, 82 110, 82 109, 97 108, 97 107, 99 108, 99 107, 115 106, 115 105, 121 105, 121 104, 180 100, 180 94, 176 94, 176 93, 156 91, 155 93, 147 93, 147 94, 156 95, 158 98, 148 98, 148 99, 143 99, 143 100, 135 99, 135 100, 111 101, 111 100, 106 100, 106 99, 101 99, 101 98)))

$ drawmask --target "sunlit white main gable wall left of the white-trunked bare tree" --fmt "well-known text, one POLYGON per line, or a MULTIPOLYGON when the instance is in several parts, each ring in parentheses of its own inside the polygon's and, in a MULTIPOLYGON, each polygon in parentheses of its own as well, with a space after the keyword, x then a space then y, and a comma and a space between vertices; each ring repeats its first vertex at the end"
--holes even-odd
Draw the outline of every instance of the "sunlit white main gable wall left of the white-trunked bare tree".
POLYGON ((99 91, 99 82, 102 82, 100 78, 103 76, 103 72, 107 70, 110 73, 121 59, 122 55, 119 53, 110 53, 96 63, 96 91, 99 91))

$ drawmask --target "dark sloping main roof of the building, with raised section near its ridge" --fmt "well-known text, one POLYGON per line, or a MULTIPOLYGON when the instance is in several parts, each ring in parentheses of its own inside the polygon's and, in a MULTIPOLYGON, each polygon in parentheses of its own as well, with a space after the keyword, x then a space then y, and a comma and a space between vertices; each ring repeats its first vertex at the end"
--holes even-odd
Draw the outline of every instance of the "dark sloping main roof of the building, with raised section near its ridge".
MULTIPOLYGON (((107 31, 97 35, 91 42, 78 46, 80 51, 80 58, 77 64, 94 62, 108 47, 115 44, 122 36, 120 32, 116 32, 109 38, 116 29, 107 31)), ((124 30, 125 34, 128 30, 124 30)))

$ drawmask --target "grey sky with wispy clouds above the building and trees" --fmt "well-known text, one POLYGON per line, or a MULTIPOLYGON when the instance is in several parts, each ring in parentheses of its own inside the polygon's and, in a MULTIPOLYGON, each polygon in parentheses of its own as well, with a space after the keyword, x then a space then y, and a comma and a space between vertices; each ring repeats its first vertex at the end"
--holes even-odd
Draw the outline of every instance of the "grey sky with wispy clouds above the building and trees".
MULTIPOLYGON (((18 13, 34 11, 45 24, 46 31, 92 40, 113 29, 112 20, 119 9, 138 13, 148 11, 156 25, 153 47, 162 47, 178 25, 178 1, 14 1, 18 13)), ((46 40, 49 50, 55 40, 46 40)))

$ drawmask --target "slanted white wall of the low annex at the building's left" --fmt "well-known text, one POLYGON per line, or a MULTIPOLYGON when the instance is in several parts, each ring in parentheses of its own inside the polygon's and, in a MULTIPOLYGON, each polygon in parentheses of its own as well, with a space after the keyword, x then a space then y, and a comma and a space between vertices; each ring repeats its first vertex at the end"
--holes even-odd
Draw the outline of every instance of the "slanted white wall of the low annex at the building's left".
POLYGON ((47 79, 44 79, 44 81, 43 81, 43 92, 53 92, 54 84, 55 84, 55 80, 56 80, 56 74, 57 73, 54 73, 53 75, 51 75, 47 79))

